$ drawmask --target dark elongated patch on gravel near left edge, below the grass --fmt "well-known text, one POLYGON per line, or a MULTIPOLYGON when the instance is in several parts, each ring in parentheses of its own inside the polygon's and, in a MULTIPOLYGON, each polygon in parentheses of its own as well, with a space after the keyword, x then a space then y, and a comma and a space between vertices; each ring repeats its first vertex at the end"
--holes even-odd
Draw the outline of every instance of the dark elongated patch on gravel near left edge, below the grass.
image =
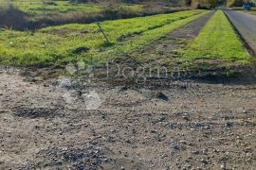
POLYGON ((59 115, 58 109, 49 108, 29 108, 29 107, 15 107, 12 109, 14 115, 24 118, 53 118, 59 115))

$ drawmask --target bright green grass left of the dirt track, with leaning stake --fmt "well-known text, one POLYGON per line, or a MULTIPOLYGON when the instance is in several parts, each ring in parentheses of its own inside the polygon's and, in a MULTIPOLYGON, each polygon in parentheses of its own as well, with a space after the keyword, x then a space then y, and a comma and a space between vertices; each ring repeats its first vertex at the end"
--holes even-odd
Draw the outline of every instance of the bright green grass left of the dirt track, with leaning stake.
POLYGON ((99 62, 118 58, 119 50, 132 52, 160 38, 179 26, 195 20, 206 10, 158 14, 134 19, 102 22, 111 44, 106 45, 98 26, 49 26, 35 32, 0 30, 0 62, 9 65, 34 66, 62 64, 82 59, 99 62), (74 54, 79 47, 89 51, 74 54))

